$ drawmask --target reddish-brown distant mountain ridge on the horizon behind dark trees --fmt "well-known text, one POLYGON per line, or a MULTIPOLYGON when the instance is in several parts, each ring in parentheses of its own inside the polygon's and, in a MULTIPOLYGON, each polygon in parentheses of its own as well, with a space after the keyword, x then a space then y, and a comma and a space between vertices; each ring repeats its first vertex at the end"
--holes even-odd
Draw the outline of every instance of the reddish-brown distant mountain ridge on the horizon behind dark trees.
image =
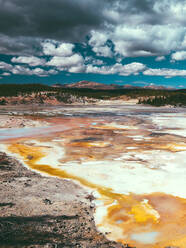
POLYGON ((58 88, 87 88, 87 89, 99 89, 99 90, 115 90, 115 89, 157 89, 157 90, 163 90, 163 89, 168 89, 164 86, 157 86, 157 85, 148 85, 144 87, 140 86, 133 86, 130 84, 125 84, 125 85, 117 85, 117 84, 103 84, 103 83, 97 83, 97 82, 92 82, 92 81, 79 81, 75 83, 70 83, 70 84, 53 84, 52 87, 58 87, 58 88))

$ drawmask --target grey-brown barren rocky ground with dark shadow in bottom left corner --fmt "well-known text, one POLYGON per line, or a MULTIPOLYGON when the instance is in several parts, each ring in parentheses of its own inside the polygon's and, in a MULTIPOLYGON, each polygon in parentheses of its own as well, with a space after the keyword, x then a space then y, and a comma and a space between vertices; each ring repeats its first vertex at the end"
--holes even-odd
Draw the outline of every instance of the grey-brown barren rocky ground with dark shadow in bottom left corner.
POLYGON ((0 153, 0 247, 123 247, 97 232, 93 212, 80 186, 0 153))

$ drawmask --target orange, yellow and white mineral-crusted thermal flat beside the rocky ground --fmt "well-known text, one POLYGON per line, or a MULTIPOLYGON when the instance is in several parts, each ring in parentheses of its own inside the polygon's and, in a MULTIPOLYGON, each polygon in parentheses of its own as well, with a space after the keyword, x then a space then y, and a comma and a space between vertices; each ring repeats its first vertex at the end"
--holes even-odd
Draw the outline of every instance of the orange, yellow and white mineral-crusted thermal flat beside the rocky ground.
POLYGON ((0 150, 86 186, 96 198, 97 228, 109 239, 137 248, 186 247, 185 113, 52 122, 42 135, 12 131, 0 150))

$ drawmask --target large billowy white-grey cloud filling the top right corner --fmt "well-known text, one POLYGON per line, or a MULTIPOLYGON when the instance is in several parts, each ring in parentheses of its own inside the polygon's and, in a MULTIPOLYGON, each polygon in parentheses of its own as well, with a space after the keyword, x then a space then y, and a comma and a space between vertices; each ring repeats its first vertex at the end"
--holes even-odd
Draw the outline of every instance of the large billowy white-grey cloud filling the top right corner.
POLYGON ((186 48, 186 1, 116 1, 107 38, 126 57, 162 56, 186 48))

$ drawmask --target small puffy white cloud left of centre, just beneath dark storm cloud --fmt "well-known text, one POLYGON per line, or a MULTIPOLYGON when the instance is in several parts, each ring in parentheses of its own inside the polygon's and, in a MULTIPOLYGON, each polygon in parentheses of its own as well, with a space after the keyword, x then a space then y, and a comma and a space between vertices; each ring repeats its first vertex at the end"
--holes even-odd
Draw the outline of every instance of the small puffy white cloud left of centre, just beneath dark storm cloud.
POLYGON ((43 53, 50 56, 69 57, 73 55, 74 44, 48 40, 42 43, 43 53))

